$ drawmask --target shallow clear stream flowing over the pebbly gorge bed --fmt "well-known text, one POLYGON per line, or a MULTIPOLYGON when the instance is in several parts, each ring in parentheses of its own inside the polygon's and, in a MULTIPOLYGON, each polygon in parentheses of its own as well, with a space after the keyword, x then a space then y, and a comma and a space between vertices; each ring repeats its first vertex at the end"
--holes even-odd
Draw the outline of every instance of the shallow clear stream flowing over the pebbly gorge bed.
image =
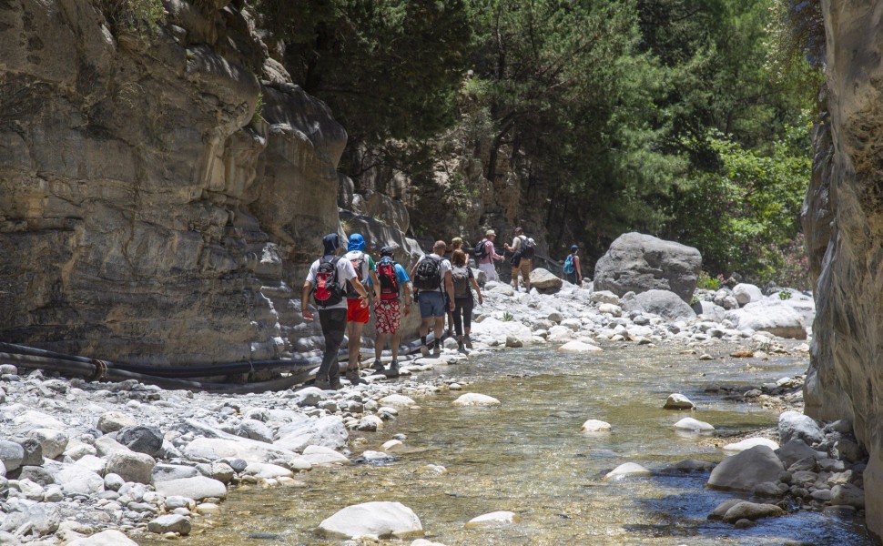
MULTIPOLYGON (((195 521, 188 546, 329 544, 312 529, 340 509, 367 501, 400 501, 421 519, 427 538, 454 544, 872 544, 862 521, 819 511, 796 511, 736 530, 706 516, 736 496, 705 488, 707 472, 664 471, 679 460, 719 461, 714 437, 684 434, 672 425, 689 415, 662 410, 684 393, 718 436, 774 427, 777 413, 706 392, 710 385, 759 385, 803 373, 805 357, 700 361, 680 346, 610 346, 592 356, 553 349, 508 350, 435 373, 472 381, 463 392, 502 401, 491 408, 456 408, 462 392, 418 399, 420 410, 375 433, 353 432, 380 450, 393 434, 410 451, 383 466, 314 469, 303 488, 232 491, 212 525, 195 521), (585 420, 613 432, 584 435, 585 420), (624 462, 657 471, 652 478, 614 482, 604 474, 624 462), (427 471, 444 466, 446 474, 427 471), (513 511, 515 524, 463 528, 492 511, 513 511)), ((707 350, 707 349, 706 349, 707 350)), ((355 453, 356 455, 359 452, 355 453)), ((749 496, 745 496, 746 499, 749 496)), ((160 543, 160 541, 154 541, 160 543)), ((141 541, 142 544, 150 542, 141 541)), ((401 542, 400 542, 401 543, 401 542)), ((410 543, 407 541, 405 543, 410 543)))

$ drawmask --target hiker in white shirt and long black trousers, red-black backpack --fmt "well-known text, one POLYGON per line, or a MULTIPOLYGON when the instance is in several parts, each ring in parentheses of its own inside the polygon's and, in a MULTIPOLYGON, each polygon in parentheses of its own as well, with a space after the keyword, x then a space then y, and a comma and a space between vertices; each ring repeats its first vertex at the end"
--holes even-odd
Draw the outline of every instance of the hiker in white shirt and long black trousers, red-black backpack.
POLYGON ((322 364, 316 372, 315 384, 320 389, 340 389, 340 366, 337 362, 340 343, 347 332, 347 309, 349 304, 344 290, 347 281, 359 294, 359 305, 368 308, 368 291, 362 286, 356 270, 348 259, 337 256, 340 251, 340 237, 330 233, 322 238, 325 248, 322 258, 310 266, 310 273, 300 291, 300 314, 304 320, 313 320, 313 312, 307 308, 310 293, 319 308, 319 322, 322 336, 325 337, 325 351, 322 364))

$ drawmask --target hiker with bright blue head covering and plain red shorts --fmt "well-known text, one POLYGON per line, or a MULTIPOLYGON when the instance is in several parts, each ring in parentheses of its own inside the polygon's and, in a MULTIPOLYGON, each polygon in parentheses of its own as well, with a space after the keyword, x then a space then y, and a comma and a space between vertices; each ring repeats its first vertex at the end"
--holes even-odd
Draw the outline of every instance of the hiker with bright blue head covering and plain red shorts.
MULTIPOLYGON (((361 283, 373 288, 374 300, 377 301, 381 298, 381 287, 377 282, 377 273, 374 271, 374 259, 365 252, 365 238, 359 233, 353 233, 350 235, 350 244, 347 250, 344 258, 350 260, 350 264, 355 269, 361 283)), ((349 339, 347 349, 350 351, 347 379, 353 385, 364 382, 359 377, 359 351, 361 349, 361 332, 369 320, 369 308, 362 307, 359 294, 355 290, 350 290, 350 284, 347 284, 347 338, 349 339)))

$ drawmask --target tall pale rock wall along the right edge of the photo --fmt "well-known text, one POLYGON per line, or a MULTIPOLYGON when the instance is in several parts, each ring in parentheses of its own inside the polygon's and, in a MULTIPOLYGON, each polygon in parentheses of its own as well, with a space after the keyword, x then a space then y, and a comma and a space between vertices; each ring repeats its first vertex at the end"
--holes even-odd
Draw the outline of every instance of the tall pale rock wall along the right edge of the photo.
POLYGON ((868 527, 883 535, 883 21, 825 0, 830 126, 817 131, 804 226, 817 276, 806 411, 853 421, 870 454, 868 527), (833 220, 833 222, 832 222, 833 220), (824 254, 822 254, 824 249, 824 254), (820 257, 823 257, 819 259, 820 257))

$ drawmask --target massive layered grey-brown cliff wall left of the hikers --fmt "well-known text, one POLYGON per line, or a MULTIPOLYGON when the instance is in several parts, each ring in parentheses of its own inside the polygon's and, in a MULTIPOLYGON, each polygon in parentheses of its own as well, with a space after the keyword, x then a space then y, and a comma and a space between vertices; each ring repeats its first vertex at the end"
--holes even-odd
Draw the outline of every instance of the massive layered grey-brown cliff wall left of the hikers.
POLYGON ((90 0, 0 2, 4 341, 162 365, 309 330, 291 299, 340 227, 346 133, 247 12, 165 5, 138 35, 90 0))

